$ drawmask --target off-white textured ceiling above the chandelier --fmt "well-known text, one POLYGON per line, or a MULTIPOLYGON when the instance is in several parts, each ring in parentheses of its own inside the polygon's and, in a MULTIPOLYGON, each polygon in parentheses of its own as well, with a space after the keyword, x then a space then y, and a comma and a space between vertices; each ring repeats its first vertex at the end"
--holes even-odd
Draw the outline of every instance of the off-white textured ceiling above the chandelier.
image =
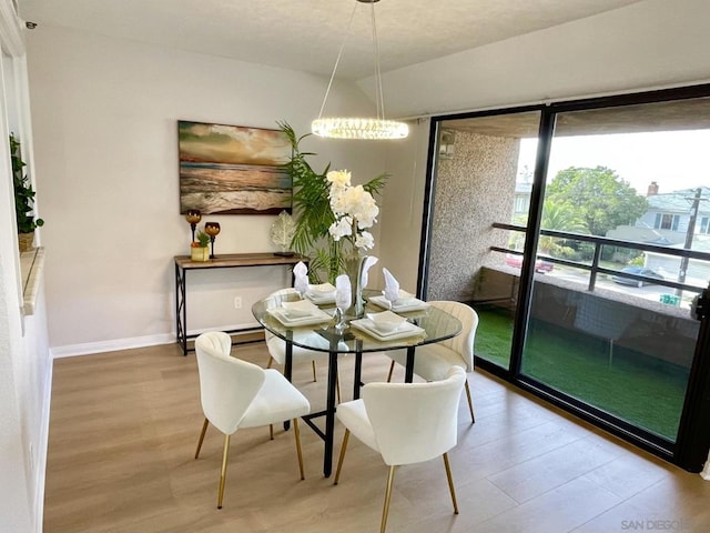
MULTIPOLYGON (((383 72, 636 3, 640 0, 382 0, 383 72)), ((331 74, 374 73, 371 6, 356 0, 17 0, 26 21, 331 74)))

